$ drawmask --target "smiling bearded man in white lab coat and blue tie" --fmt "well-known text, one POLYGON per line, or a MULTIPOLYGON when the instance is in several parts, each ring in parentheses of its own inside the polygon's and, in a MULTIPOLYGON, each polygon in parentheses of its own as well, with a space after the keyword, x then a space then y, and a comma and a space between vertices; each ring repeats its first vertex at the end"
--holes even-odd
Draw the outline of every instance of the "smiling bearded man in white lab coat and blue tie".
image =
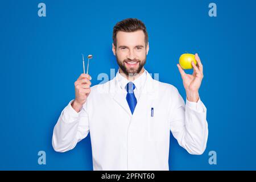
MULTIPOLYGON (((90 132, 94 170, 168 170, 170 131, 189 154, 207 145, 207 109, 199 97, 203 65, 187 75, 177 64, 187 98, 152 79, 144 69, 149 50, 143 22, 125 19, 113 29, 112 50, 119 70, 113 80, 90 88, 86 74, 75 82, 75 100, 53 130, 55 151, 72 150, 90 132)), ((193 63, 193 62, 192 62, 193 63)))

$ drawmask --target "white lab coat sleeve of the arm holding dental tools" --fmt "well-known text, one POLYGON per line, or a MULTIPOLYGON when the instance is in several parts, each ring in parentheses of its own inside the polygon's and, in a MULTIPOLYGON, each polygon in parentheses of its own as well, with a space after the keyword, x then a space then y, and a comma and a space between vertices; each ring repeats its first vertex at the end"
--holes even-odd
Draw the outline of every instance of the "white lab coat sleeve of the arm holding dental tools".
POLYGON ((52 147, 57 152, 72 150, 77 142, 89 133, 86 104, 77 113, 71 106, 73 100, 64 108, 53 129, 52 147))

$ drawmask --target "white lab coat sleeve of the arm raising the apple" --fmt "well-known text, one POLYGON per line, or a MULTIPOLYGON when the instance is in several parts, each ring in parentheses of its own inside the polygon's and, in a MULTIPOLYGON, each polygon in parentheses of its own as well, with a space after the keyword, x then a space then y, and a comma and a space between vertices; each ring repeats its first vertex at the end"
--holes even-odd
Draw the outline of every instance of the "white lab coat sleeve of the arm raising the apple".
POLYGON ((205 151, 208 139, 207 108, 200 100, 184 103, 178 90, 172 89, 170 130, 179 145, 193 155, 205 151))

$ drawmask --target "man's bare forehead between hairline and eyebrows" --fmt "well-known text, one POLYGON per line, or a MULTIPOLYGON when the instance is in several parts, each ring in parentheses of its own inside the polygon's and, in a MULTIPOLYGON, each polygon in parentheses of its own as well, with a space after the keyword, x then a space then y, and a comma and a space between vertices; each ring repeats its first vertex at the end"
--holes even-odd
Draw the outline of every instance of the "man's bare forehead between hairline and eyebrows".
POLYGON ((142 30, 135 32, 117 32, 117 45, 120 46, 137 46, 145 44, 145 35, 142 30))

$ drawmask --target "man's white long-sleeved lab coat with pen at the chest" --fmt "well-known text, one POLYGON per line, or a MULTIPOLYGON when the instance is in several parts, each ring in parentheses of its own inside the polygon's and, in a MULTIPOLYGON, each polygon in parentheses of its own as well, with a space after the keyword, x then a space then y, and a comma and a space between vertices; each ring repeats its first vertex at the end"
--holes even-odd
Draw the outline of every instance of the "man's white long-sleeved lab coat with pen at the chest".
POLYGON ((203 154, 208 138, 203 102, 185 105, 175 86, 148 73, 142 89, 131 115, 116 77, 92 86, 79 113, 73 100, 61 112, 53 130, 54 150, 72 150, 90 132, 94 170, 168 170, 171 131, 189 154, 203 154))

